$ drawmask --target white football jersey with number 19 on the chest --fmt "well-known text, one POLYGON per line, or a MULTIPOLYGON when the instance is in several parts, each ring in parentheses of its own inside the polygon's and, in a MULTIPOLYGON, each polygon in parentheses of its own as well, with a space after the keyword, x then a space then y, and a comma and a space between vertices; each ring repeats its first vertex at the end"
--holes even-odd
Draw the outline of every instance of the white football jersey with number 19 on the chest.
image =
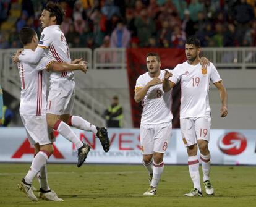
POLYGON ((209 104, 210 82, 221 82, 215 66, 210 63, 207 69, 202 65, 190 65, 187 62, 177 65, 173 70, 171 82, 181 81, 181 112, 180 118, 210 117, 209 104))

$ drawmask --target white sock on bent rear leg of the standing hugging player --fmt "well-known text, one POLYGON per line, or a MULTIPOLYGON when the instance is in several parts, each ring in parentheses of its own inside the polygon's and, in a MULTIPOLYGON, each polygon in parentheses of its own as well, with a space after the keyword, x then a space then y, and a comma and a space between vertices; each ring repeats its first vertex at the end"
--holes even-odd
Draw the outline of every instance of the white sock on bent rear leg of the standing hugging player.
POLYGON ((38 174, 41 167, 46 163, 46 161, 49 159, 49 153, 46 151, 39 151, 35 158, 32 161, 32 164, 30 166, 30 169, 27 173, 27 175, 24 177, 25 182, 28 184, 32 184, 32 180, 38 174))

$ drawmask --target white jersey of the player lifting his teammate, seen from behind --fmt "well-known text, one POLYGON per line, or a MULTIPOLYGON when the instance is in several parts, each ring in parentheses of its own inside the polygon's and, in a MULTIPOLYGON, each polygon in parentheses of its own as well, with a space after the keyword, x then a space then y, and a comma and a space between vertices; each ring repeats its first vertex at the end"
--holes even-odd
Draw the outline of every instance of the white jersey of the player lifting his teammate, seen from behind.
MULTIPOLYGON (((24 49, 25 55, 33 53, 31 49, 24 49)), ((46 69, 53 62, 48 57, 42 57, 37 65, 26 64, 20 61, 20 114, 33 116, 46 115, 46 69)))

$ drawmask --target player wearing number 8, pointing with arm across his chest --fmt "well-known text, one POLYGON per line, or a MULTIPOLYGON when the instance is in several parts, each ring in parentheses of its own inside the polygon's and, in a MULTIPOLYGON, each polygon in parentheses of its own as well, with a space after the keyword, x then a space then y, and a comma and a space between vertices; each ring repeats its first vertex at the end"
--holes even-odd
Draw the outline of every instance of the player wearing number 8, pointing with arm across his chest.
POLYGON ((163 156, 171 138, 171 90, 163 93, 164 70, 160 70, 160 67, 160 56, 148 53, 148 72, 140 75, 135 85, 134 99, 137 103, 142 101, 143 106, 140 123, 142 162, 150 181, 150 188, 144 195, 156 194, 164 169, 163 156))

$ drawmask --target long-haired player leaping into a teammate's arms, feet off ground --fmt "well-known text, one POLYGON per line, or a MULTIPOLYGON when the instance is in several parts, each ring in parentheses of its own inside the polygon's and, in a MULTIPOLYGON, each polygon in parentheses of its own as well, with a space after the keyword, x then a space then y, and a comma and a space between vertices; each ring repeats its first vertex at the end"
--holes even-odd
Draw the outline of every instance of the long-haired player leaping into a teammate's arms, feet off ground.
MULTIPOLYGON (((63 19, 64 11, 62 7, 58 3, 49 1, 40 17, 43 32, 35 53, 29 56, 22 54, 19 56, 19 60, 28 64, 37 64, 45 53, 52 60, 70 62, 69 46, 59 28, 63 19)), ((16 62, 17 59, 14 57, 13 61, 16 62)), ((74 143, 78 149, 77 167, 80 167, 87 158, 90 146, 83 144, 70 126, 95 133, 100 139, 105 152, 109 150, 108 132, 105 127, 96 127, 82 119, 82 117, 70 116, 75 97, 75 80, 72 71, 53 72, 50 78, 51 85, 46 111, 47 123, 49 127, 57 130, 63 137, 74 143)))

